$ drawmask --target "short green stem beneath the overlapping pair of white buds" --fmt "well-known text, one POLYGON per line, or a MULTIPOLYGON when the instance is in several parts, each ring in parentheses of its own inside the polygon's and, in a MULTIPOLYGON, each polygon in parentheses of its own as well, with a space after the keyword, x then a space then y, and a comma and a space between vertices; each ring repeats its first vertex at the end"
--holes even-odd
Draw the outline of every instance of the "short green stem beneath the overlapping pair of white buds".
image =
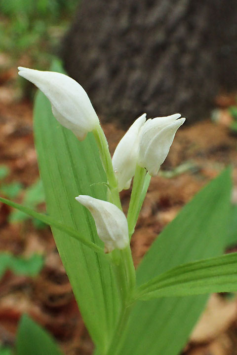
POLYGON ((143 201, 146 197, 147 189, 151 176, 146 172, 146 169, 137 165, 135 176, 133 179, 131 199, 127 213, 128 233, 131 239, 137 223, 139 213, 142 208, 143 201))

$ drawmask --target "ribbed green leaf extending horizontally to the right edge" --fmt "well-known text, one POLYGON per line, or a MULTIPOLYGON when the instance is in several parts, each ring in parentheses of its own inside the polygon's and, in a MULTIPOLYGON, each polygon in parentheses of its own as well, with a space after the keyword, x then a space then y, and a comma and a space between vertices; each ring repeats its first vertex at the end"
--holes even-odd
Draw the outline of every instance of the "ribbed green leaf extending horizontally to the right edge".
POLYGON ((180 265, 141 285, 135 298, 237 291, 237 253, 180 265))

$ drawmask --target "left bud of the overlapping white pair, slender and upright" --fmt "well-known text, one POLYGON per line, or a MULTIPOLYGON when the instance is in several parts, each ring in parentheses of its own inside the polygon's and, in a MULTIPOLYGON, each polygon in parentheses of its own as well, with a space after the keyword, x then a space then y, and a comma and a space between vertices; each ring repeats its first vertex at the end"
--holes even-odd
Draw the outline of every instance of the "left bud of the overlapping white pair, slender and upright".
POLYGON ((138 160, 139 134, 146 121, 146 113, 136 119, 118 143, 112 159, 118 181, 118 191, 128 189, 138 160))

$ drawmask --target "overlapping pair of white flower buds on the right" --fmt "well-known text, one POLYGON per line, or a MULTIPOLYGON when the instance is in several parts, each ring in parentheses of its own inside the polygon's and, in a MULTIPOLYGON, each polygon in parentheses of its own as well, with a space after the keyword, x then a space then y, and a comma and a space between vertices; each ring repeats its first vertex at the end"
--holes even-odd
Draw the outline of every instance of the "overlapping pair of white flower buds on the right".
POLYGON ((184 123, 179 113, 146 121, 146 114, 132 124, 113 156, 119 191, 129 188, 136 164, 157 176, 173 142, 177 129, 184 123))

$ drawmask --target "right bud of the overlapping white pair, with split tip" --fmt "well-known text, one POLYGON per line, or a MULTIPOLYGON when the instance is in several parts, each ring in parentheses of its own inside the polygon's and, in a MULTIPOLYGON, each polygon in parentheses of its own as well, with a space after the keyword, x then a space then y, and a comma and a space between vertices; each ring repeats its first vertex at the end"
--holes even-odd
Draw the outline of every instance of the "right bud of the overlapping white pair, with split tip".
POLYGON ((151 176, 157 176, 173 142, 177 129, 184 123, 176 113, 167 117, 147 120, 141 132, 138 165, 146 168, 151 176))

